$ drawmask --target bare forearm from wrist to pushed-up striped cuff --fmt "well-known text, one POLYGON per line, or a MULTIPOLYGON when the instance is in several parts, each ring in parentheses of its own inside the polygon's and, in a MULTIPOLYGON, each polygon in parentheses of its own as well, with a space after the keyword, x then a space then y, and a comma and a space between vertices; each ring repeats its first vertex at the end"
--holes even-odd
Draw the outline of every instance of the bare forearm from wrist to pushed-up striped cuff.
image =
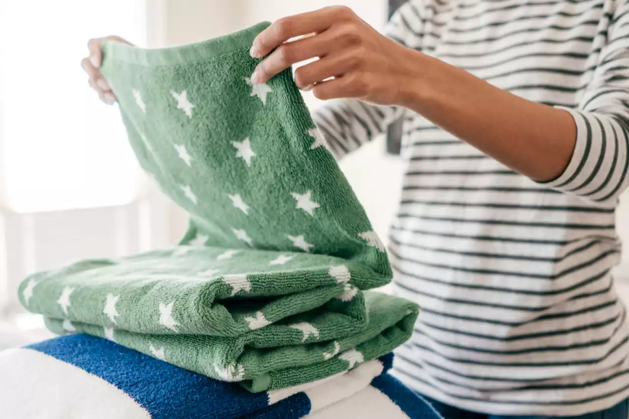
POLYGON ((464 70, 413 52, 416 76, 401 87, 401 104, 536 181, 567 167, 576 125, 561 109, 519 98, 464 70))

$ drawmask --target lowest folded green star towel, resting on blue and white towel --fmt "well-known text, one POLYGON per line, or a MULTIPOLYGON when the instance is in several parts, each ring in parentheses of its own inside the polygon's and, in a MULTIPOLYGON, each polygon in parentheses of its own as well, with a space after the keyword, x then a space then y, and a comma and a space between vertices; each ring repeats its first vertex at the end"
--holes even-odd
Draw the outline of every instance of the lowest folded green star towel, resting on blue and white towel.
MULTIPOLYGON (((148 335, 110 328, 72 323, 77 332, 106 337, 118 344, 158 357, 180 367, 223 381, 240 381, 251 391, 265 391, 306 383, 337 374, 362 362, 391 352, 403 344, 413 330, 416 306, 409 301, 386 294, 365 293, 369 326, 337 340, 303 345, 272 345, 260 342, 259 332, 235 338, 202 335, 148 335)), ((325 333, 327 313, 301 323, 296 316, 288 323, 301 326, 303 339, 319 340, 325 333)), ((47 318, 47 327, 65 333, 62 320, 47 318)), ((278 335, 287 333, 284 325, 265 327, 278 335)), ((290 333, 289 333, 290 334, 290 333)))

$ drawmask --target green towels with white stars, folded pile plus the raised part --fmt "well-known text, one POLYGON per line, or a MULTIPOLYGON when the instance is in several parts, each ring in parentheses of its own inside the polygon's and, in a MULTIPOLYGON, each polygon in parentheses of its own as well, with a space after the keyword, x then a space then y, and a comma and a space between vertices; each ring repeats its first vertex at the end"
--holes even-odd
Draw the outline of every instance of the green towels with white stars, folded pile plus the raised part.
POLYGON ((22 303, 50 330, 253 393, 348 371, 409 338, 418 308, 366 291, 390 280, 387 255, 290 70, 248 77, 267 25, 164 50, 103 45, 131 147, 191 223, 174 249, 23 281, 22 303))

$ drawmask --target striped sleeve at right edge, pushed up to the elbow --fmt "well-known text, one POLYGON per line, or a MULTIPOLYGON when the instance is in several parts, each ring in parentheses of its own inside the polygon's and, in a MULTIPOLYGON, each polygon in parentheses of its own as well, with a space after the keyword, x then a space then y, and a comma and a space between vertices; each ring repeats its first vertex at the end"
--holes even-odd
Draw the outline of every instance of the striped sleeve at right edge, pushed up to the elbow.
POLYGON ((629 1, 609 15, 607 41, 574 118, 577 138, 564 172, 543 185, 614 205, 629 182, 629 1))

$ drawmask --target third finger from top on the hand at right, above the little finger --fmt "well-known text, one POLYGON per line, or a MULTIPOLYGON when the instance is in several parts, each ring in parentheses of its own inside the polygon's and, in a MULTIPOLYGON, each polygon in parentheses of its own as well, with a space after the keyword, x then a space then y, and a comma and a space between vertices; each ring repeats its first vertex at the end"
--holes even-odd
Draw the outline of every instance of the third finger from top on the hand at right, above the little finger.
POLYGON ((338 55, 328 55, 320 60, 303 65, 295 70, 295 84, 299 89, 309 90, 308 86, 323 82, 330 77, 340 77, 362 65, 359 52, 350 50, 338 55))

